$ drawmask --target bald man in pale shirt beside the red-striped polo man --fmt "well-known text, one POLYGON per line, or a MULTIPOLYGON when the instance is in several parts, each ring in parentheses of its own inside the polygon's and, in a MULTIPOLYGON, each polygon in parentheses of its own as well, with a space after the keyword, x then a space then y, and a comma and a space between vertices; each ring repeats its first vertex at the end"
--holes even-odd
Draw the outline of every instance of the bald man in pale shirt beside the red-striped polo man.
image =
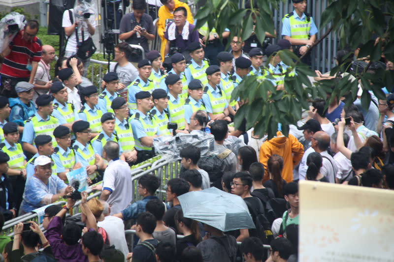
POLYGON ((40 94, 45 94, 52 86, 51 75, 49 74, 50 64, 55 59, 55 49, 50 45, 42 46, 41 60, 38 62, 37 72, 34 76, 33 101, 40 94))

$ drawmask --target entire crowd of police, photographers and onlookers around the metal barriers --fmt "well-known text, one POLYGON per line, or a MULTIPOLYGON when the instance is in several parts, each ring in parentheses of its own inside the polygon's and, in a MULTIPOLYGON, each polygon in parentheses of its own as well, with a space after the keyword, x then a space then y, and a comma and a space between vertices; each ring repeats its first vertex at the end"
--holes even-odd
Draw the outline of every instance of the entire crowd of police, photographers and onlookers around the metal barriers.
MULTIPOLYGON (((349 107, 337 98, 328 106, 326 99, 315 100, 288 137, 280 125, 269 140, 247 130, 246 119, 237 129, 230 125, 239 107, 248 103, 231 99, 244 76, 257 75, 283 89, 285 74, 292 76, 295 69, 277 52, 289 49, 301 56, 316 41, 318 30, 305 13, 306 0, 293 0, 294 11, 283 18, 283 39, 263 45, 254 30, 245 41, 229 39, 226 30, 224 42, 206 24, 194 30, 190 8, 178 0, 148 3, 146 10, 145 0, 133 0, 133 12, 118 17, 119 40, 124 42, 115 46, 116 63, 99 87, 86 78, 90 51, 78 52, 80 43, 92 41, 96 27, 94 16, 80 12, 85 0, 64 13, 67 43, 54 77, 50 64, 59 50, 36 37, 36 21, 27 21, 3 50, 0 229, 5 221, 55 203, 45 208, 44 232, 30 221, 15 225, 13 240, 0 236, 5 261, 297 261, 297 181, 394 189, 393 87, 382 89, 386 99, 371 92, 368 110, 361 107, 362 92, 367 92, 362 85, 368 83, 359 84, 349 107), (149 50, 155 34, 162 39, 161 49, 149 50), (226 41, 230 50, 225 50, 226 41), (146 58, 129 44, 140 45, 146 58), (155 196, 162 181, 143 175, 135 188, 142 200, 132 203, 131 166, 155 156, 155 138, 206 133, 215 141, 215 165, 199 147, 186 146, 179 155, 180 176, 166 181, 165 202, 155 196), (231 146, 234 137, 241 146, 231 146), (56 202, 75 196, 67 174, 81 168, 89 185, 102 181, 92 187, 101 194, 87 201, 87 193, 80 193, 81 214, 66 219, 66 214, 73 215, 75 198, 67 198, 64 206, 56 202), (184 216, 178 198, 210 187, 240 196, 256 229, 240 226, 223 232, 184 216), (134 246, 125 229, 135 230, 134 246), (263 244, 270 245, 269 255, 263 244)), ((122 9, 123 4, 108 4, 108 17, 117 11, 110 6, 122 9)), ((266 37, 275 38, 276 31, 266 37)), ((349 63, 342 75, 350 74, 352 81, 368 61, 358 52, 345 49, 335 57, 337 64, 349 63)), ((311 56, 303 61, 310 64, 311 56)), ((382 57, 367 73, 380 67, 394 69, 382 57)), ((332 89, 342 77, 316 75, 314 81, 334 78, 332 89)))

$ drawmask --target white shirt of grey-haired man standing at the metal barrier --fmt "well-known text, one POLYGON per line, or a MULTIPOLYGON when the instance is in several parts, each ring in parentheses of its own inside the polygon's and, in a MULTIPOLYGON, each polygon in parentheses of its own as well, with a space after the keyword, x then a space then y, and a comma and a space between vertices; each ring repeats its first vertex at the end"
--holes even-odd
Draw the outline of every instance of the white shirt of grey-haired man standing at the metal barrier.
POLYGON ((109 161, 105 169, 102 188, 112 191, 107 203, 111 205, 111 215, 125 209, 132 201, 132 181, 129 164, 120 159, 109 161))

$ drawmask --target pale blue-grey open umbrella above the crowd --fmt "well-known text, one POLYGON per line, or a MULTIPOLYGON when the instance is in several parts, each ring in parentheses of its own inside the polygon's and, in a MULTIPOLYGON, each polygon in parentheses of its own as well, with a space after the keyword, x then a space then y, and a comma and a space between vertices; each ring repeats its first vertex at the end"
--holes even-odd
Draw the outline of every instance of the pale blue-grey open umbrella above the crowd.
POLYGON ((183 194, 178 200, 184 217, 221 231, 255 228, 245 201, 216 187, 183 194))

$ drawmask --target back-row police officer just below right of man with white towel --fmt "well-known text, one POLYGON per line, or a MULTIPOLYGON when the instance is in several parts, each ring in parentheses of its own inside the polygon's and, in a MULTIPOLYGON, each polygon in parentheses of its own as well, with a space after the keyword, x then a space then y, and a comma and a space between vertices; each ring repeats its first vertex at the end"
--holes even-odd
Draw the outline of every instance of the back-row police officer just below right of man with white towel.
POLYGON ((198 79, 201 81, 202 85, 205 86, 208 84, 205 70, 208 68, 209 64, 207 59, 204 59, 204 50, 199 42, 191 43, 188 50, 192 60, 185 69, 186 79, 189 83, 192 79, 198 79))

